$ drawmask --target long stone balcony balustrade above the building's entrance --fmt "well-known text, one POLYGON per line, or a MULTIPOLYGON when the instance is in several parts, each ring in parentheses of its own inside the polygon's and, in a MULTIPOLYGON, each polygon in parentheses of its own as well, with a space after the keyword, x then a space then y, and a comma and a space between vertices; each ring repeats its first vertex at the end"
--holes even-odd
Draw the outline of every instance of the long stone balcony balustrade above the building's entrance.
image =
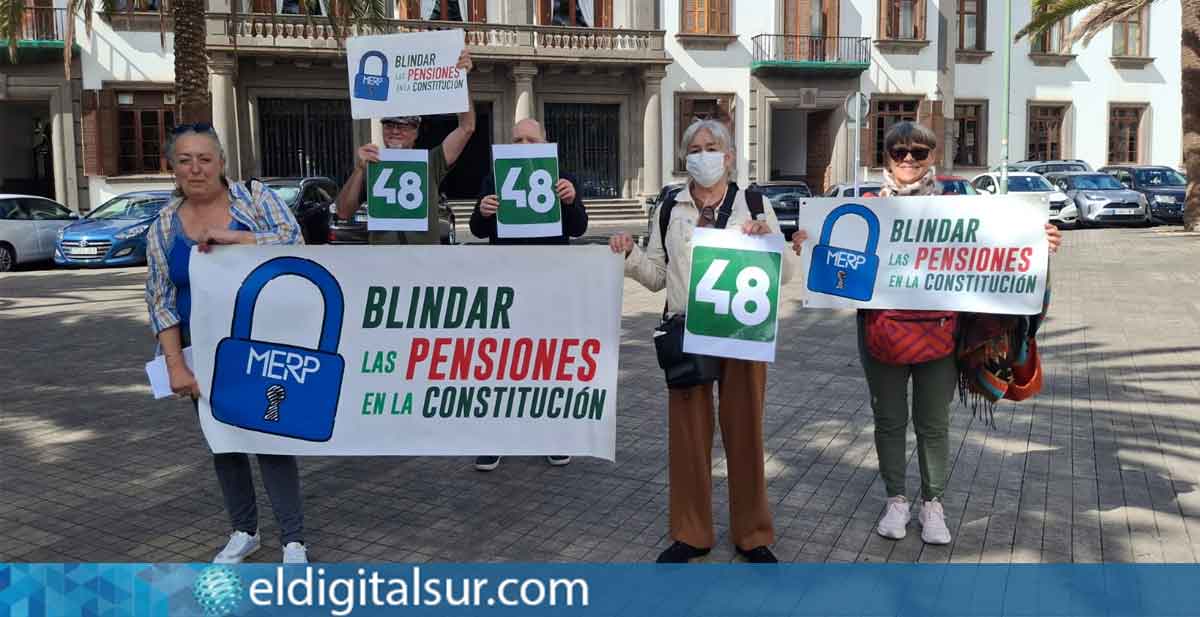
MULTIPOLYGON (((667 61, 662 31, 548 25, 509 25, 473 22, 359 20, 343 36, 424 32, 462 29, 472 55, 479 58, 536 56, 546 60, 667 61)), ((334 25, 320 17, 290 14, 209 13, 210 48, 287 50, 341 49, 334 25)))

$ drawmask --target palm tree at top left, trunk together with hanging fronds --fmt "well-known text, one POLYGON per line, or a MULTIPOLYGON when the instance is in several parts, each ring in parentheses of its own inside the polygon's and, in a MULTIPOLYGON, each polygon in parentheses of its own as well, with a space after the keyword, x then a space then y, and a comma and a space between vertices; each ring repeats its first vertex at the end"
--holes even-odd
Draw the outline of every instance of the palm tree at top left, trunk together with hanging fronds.
MULTIPOLYGON (((234 13, 239 12, 242 1, 230 2, 234 13)), ((401 0, 403 1, 403 0, 401 0)), ((20 38, 22 26, 26 6, 32 6, 32 0, 0 0, 0 38, 8 41, 8 56, 17 61, 17 40, 20 38)), ((130 14, 137 8, 133 0, 118 2, 118 0, 67 0, 66 34, 62 41, 62 62, 67 77, 71 76, 71 55, 76 42, 74 16, 83 16, 83 23, 88 36, 91 36, 91 20, 96 14, 96 6, 106 14, 119 14, 122 11, 130 14), (118 5, 122 4, 124 8, 118 5)), ((160 42, 167 46, 167 13, 163 0, 157 2, 160 23, 160 42)), ((175 22, 173 34, 175 35, 175 101, 179 106, 178 115, 180 122, 202 122, 212 119, 212 106, 209 98, 209 56, 205 50, 205 37, 208 35, 204 13, 208 10, 208 0, 169 0, 170 16, 175 22)), ((274 0, 269 1, 275 6, 274 0)), ((388 0, 302 0, 298 1, 298 10, 307 14, 310 19, 320 13, 329 13, 326 18, 334 26, 334 35, 341 41, 344 32, 349 31, 353 20, 360 19, 367 23, 378 24, 388 18, 388 0), (328 5, 328 11, 322 11, 322 5, 328 5)))

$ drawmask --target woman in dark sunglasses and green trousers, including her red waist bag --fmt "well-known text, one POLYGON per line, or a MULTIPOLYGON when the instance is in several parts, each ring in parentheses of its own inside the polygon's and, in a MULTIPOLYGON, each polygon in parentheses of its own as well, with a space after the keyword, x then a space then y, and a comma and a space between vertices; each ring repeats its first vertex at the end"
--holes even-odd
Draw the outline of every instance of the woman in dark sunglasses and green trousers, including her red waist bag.
MULTIPOLYGON (((881 197, 938 194, 934 182, 937 137, 914 122, 898 122, 883 138, 887 168, 881 197)), ((1050 252, 1062 233, 1046 224, 1050 252)), ((950 402, 959 384, 955 361, 958 313, 949 311, 875 311, 858 313, 858 349, 875 414, 875 451, 888 491, 876 532, 899 540, 911 519, 905 487, 908 431, 908 382, 912 382, 912 424, 920 467, 920 538, 949 544, 942 509, 949 462, 950 402), (913 336, 907 336, 912 333, 913 336), (902 342, 904 349, 898 347, 902 342), (918 352, 910 353, 912 349, 918 352)))

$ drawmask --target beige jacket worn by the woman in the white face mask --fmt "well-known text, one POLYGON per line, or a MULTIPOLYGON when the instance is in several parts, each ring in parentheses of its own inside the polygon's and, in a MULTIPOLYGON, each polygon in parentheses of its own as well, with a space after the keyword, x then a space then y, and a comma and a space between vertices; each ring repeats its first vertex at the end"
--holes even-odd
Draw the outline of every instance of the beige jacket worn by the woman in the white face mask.
MULTIPOLYGON (((770 199, 762 198, 762 206, 767 216, 767 224, 773 233, 782 236, 779 228, 779 220, 775 218, 775 209, 770 205, 770 199)), ((640 246, 634 246, 634 251, 625 258, 625 276, 642 283, 647 289, 658 292, 664 287, 667 290, 667 311, 680 313, 688 308, 688 284, 691 276, 691 234, 696 229, 696 221, 700 218, 700 209, 692 202, 690 187, 684 187, 676 196, 676 206, 671 210, 671 221, 667 223, 667 251, 671 252, 671 263, 667 264, 666 254, 662 251, 662 234, 659 232, 659 217, 650 222, 649 242, 643 251, 640 246)), ((738 229, 742 223, 750 220, 750 208, 746 205, 745 191, 738 191, 733 199, 733 210, 730 214, 726 229, 738 229)), ((791 248, 784 250, 780 278, 781 284, 792 278, 796 254, 791 248)))

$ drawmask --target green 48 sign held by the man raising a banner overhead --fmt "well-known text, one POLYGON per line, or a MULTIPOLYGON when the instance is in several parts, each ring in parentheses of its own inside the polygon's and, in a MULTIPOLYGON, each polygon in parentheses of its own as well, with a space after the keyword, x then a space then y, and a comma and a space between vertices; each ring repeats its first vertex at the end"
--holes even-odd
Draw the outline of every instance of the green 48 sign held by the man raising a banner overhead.
POLYGON ((379 150, 367 166, 367 229, 427 232, 428 184, 428 150, 379 150))

